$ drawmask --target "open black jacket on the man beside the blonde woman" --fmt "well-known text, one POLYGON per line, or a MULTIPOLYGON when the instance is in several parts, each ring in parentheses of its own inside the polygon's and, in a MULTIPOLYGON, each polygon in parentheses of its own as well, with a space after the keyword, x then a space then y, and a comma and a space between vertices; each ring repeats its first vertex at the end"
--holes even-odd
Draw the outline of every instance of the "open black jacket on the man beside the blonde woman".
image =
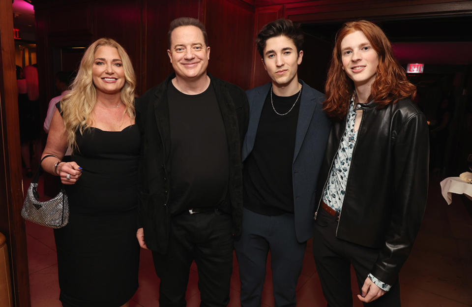
MULTIPOLYGON (((233 216, 233 232, 237 236, 242 221, 241 146, 249 120, 246 93, 236 85, 208 75, 215 90, 228 140, 228 199, 233 216)), ((169 240, 170 191, 170 126, 167 85, 175 74, 148 90, 137 99, 136 123, 141 130, 139 163, 139 223, 144 228, 146 245, 161 254, 167 252, 169 240)), ((202 119, 205 120, 205 119, 202 119)))

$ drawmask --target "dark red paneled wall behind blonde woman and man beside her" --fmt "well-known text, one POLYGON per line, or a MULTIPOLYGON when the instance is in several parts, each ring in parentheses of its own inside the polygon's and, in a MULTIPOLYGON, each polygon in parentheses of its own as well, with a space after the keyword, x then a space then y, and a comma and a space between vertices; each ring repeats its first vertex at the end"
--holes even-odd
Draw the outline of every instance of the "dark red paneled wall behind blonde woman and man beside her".
POLYGON ((33 4, 43 112, 56 94, 55 73, 77 58, 64 53, 100 37, 111 37, 126 49, 136 71, 138 94, 160 83, 172 72, 166 52, 169 24, 182 16, 198 18, 207 27, 208 71, 243 89, 251 86, 254 6, 247 0, 36 0, 33 4))

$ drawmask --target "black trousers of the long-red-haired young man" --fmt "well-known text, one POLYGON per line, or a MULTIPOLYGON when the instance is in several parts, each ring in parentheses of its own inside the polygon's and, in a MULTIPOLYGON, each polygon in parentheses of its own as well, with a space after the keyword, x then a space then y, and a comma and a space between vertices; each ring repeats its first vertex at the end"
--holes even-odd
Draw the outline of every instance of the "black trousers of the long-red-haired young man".
MULTIPOLYGON (((335 237, 337 222, 323 209, 318 211, 314 227, 313 256, 324 298, 329 307, 353 306, 351 264, 357 277, 359 293, 365 278, 377 261, 379 249, 360 246, 335 237)), ((400 306, 398 281, 379 299, 364 304, 368 307, 400 306)))

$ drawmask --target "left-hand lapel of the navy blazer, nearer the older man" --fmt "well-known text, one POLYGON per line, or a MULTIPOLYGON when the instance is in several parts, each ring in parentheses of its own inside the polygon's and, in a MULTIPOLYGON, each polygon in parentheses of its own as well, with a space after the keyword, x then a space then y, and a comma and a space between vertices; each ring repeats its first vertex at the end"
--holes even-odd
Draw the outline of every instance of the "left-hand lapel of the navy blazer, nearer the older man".
POLYGON ((267 92, 270 89, 270 83, 259 87, 256 92, 248 95, 249 101, 249 124, 247 126, 246 136, 242 146, 242 160, 244 161, 254 148, 256 141, 257 128, 261 119, 262 109, 266 101, 267 92))

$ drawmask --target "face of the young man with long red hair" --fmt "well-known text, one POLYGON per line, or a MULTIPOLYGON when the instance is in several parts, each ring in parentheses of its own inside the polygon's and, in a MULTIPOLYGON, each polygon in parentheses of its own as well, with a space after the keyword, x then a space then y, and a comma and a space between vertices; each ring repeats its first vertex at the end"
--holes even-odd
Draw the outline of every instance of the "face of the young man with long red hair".
POLYGON ((354 31, 341 41, 343 70, 354 86, 371 86, 375 80, 379 55, 362 31, 354 31))

